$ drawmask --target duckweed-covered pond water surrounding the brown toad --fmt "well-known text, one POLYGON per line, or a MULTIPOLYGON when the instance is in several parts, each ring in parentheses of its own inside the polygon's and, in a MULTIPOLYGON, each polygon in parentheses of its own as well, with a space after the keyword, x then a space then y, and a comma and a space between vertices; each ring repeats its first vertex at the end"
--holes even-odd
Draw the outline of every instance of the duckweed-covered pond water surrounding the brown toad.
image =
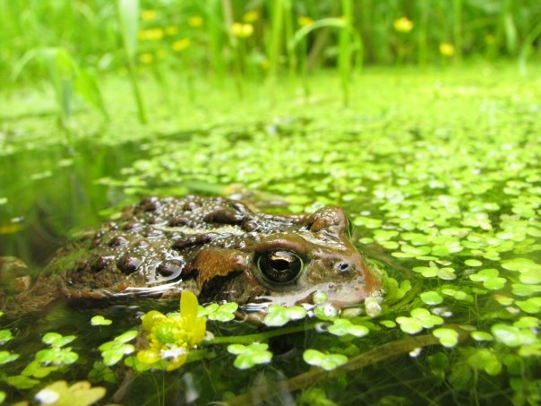
POLYGON ((272 211, 344 208, 385 283, 381 311, 315 311, 282 327, 208 321, 214 340, 170 372, 134 371, 122 352, 133 337, 114 340, 140 326, 135 312, 105 314, 110 325, 70 308, 4 315, 5 402, 59 380, 90 381, 107 389, 100 402, 123 404, 541 402, 541 79, 512 66, 368 70, 348 107, 337 83, 321 75, 309 98, 282 83, 243 100, 202 83, 174 106, 149 83, 150 125, 120 108, 120 91, 107 95, 110 122, 82 109, 69 137, 38 92, 3 100, 13 108, 0 121, 0 256, 39 269, 73 231, 143 195, 241 191, 278 202, 272 211), (23 115, 30 102, 44 114, 23 115), (76 339, 42 342, 52 332, 76 339), (107 341, 122 354, 110 366, 107 341), (251 342, 271 360, 261 346, 228 350, 251 342), (236 367, 246 349, 249 363, 269 362, 236 367), (344 359, 331 372, 311 366, 344 359))

